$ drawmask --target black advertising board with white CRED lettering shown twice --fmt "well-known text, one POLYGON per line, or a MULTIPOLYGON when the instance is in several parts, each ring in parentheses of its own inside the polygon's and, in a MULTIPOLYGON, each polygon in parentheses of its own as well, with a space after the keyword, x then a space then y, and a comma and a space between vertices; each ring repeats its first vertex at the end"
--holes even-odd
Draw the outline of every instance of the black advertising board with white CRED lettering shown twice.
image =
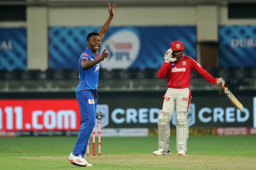
MULTIPOLYGON (((256 97, 236 96, 244 105, 236 109, 225 95, 192 96, 188 108, 189 127, 256 127, 256 97)), ((108 127, 157 128, 157 117, 162 109, 160 97, 118 96, 101 97, 99 103, 109 105, 108 127), (122 100, 120 100, 122 99, 122 100)), ((174 112, 171 126, 176 125, 174 112)))

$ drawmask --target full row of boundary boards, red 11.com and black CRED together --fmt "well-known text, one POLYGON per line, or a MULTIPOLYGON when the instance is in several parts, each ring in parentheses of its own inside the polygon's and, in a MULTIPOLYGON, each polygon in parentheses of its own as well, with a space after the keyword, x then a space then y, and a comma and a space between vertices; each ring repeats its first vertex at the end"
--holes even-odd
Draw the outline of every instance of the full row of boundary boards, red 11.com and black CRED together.
MULTIPOLYGON (((225 96, 194 97, 188 109, 189 127, 256 127, 256 97, 237 96, 244 109, 236 109, 225 96)), ((97 112, 102 128, 157 128, 161 98, 101 97, 97 112)), ((176 113, 171 126, 176 125, 176 113)), ((97 124, 96 120, 96 124, 97 124)), ((76 99, 0 100, 0 130, 79 130, 76 99)))

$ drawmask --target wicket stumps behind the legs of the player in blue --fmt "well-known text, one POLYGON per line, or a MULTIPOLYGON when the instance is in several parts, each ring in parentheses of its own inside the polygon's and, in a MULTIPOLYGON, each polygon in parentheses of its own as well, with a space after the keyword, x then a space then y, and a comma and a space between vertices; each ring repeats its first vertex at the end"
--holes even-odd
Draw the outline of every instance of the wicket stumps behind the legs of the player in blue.
MULTIPOLYGON (((100 143, 101 143, 101 138, 100 138, 100 119, 101 119, 101 113, 96 112, 96 118, 98 118, 98 155, 101 155, 101 148, 100 148, 100 143)), ((90 139, 87 144, 87 156, 90 156, 90 139)), ((92 156, 95 156, 95 126, 92 130, 92 156)))

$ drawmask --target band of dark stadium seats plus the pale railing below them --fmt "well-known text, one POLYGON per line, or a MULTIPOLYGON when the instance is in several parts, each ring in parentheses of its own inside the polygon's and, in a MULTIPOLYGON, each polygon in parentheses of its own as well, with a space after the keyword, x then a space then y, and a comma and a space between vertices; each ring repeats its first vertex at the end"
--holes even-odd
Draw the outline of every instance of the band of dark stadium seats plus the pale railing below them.
MULTIPOLYGON (((256 68, 205 68, 214 78, 223 77, 231 89, 255 89, 256 68)), ((157 78, 158 69, 101 69, 99 89, 165 90, 166 81, 157 78)), ((165 77, 166 78, 166 77, 165 77)), ((191 71, 192 90, 213 87, 195 70, 191 71)), ((0 91, 74 91, 79 83, 77 69, 0 70, 0 91), (33 81, 33 83, 31 83, 33 81)))

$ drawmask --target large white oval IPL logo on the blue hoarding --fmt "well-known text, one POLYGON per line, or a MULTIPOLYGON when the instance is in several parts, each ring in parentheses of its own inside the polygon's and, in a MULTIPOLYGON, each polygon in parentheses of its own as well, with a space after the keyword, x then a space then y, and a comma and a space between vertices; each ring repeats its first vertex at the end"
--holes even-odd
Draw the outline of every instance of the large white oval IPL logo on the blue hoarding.
POLYGON ((104 69, 127 69, 137 58, 140 51, 140 39, 130 30, 123 29, 103 41, 100 54, 107 48, 108 58, 101 63, 104 69))

